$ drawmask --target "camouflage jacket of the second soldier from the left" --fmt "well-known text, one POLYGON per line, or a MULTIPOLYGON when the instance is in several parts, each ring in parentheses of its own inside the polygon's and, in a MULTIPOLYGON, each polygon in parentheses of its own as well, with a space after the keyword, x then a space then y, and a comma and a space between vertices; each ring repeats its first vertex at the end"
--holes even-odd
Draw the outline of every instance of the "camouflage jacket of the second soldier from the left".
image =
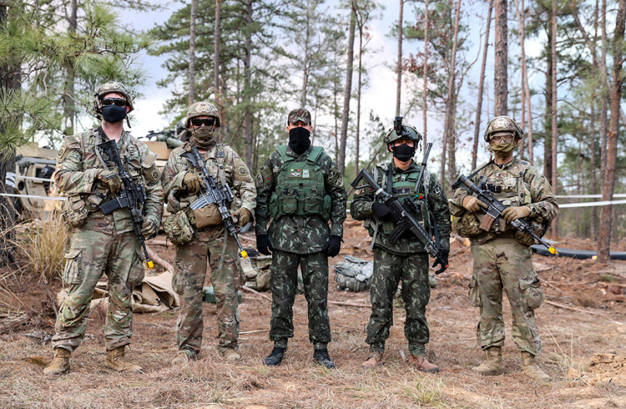
MULTIPOLYGON (((193 213, 188 206, 191 205, 196 197, 195 195, 186 195, 183 179, 188 172, 202 176, 202 170, 195 168, 185 157, 181 157, 184 152, 191 152, 191 145, 188 142, 183 146, 177 147, 170 154, 164 170, 166 178, 165 194, 168 199, 168 211, 173 213, 183 209, 187 216, 193 220, 193 213)), ((254 215, 257 205, 255 182, 252 180, 248 166, 232 150, 232 147, 218 143, 207 150, 206 153, 200 155, 204 159, 204 166, 207 167, 209 175, 214 176, 222 186, 228 185, 231 187, 234 195, 230 206, 231 211, 243 207, 248 209, 250 214, 254 215)), ((195 225, 193 227, 195 230, 195 225)), ((197 233, 200 239, 206 239, 209 236, 222 234, 223 230, 224 225, 218 225, 217 227, 206 227, 197 233)))

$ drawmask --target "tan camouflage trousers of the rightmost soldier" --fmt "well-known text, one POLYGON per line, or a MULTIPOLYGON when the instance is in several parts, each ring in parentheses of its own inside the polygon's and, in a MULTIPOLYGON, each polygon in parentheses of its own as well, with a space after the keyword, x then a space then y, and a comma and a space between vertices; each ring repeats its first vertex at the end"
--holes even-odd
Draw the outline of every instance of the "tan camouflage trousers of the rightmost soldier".
POLYGON ((480 307, 481 319, 476 328, 479 345, 483 349, 504 345, 504 289, 513 313, 512 332, 517 349, 538 355, 541 341, 533 310, 539 307, 543 290, 533 270, 531 248, 515 239, 495 239, 480 246, 472 245, 472 255, 470 303, 480 307))

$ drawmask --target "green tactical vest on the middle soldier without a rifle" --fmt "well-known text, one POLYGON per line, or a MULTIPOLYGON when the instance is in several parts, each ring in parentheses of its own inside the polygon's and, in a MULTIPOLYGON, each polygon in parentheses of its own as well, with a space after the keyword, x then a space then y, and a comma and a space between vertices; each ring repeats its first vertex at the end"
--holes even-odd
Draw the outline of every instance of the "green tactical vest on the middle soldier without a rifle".
POLYGON ((317 161, 324 152, 313 147, 304 161, 287 154, 287 145, 276 148, 284 164, 276 177, 275 191, 269 202, 273 218, 280 216, 321 216, 330 218, 330 196, 324 189, 324 175, 317 161))

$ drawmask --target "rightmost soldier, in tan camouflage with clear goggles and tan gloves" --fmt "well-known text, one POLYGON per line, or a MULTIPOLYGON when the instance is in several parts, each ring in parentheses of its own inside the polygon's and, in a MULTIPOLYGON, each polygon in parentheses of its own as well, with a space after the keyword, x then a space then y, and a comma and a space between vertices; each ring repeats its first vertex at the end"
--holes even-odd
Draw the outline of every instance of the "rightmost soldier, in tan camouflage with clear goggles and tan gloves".
POLYGON ((480 227, 485 204, 466 191, 458 189, 454 193, 450 209, 454 216, 460 216, 459 234, 472 241, 474 273, 470 281, 470 303, 480 307, 476 336, 487 355, 485 362, 472 371, 481 375, 504 372, 501 353, 504 289, 513 313, 513 340, 522 353, 522 372, 536 380, 547 380, 549 376, 535 363, 535 357, 541 353, 541 342, 534 310, 541 303, 543 290, 531 262, 529 246, 533 239, 506 222, 527 218, 542 234, 556 217, 559 205, 547 179, 527 161, 513 157, 522 134, 522 129, 508 116, 493 118, 487 125, 485 141, 493 150, 494 159, 470 175, 472 182, 484 183, 495 198, 508 206, 490 230, 480 227))

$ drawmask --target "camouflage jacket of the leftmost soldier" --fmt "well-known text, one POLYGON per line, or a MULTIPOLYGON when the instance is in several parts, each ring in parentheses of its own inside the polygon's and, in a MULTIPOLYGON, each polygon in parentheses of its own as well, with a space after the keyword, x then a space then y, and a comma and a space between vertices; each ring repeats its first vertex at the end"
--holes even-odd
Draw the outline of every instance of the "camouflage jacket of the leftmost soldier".
MULTIPOLYGON (((111 200, 113 196, 109 189, 97 180, 96 174, 99 170, 107 168, 117 171, 115 163, 96 147, 106 141, 109 141, 109 138, 102 128, 95 128, 76 136, 66 136, 56 156, 54 182, 58 189, 68 196, 69 207, 72 204, 86 207, 88 216, 81 225, 83 229, 120 234, 133 230, 128 209, 117 209, 108 215, 99 210, 99 206, 111 200)), ((122 158, 122 167, 137 184, 145 186, 144 216, 150 218, 157 226, 161 225, 163 187, 161 173, 154 163, 157 156, 148 150, 145 143, 138 141, 128 131, 122 133, 118 150, 122 158)))

